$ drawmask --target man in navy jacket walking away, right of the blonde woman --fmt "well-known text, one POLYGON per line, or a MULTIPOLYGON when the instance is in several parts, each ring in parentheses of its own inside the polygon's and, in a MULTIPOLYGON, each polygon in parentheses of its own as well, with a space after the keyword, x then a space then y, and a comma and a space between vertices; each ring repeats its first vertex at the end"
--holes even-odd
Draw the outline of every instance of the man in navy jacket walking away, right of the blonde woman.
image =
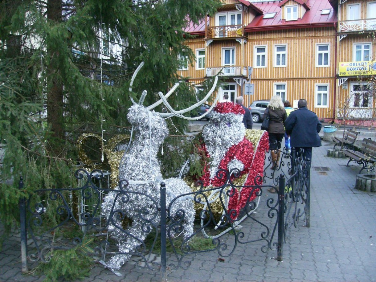
POLYGON ((312 160, 312 147, 320 147, 321 139, 318 133, 321 123, 317 115, 307 109, 307 100, 300 99, 298 109, 290 113, 285 120, 287 134, 291 135, 291 147, 304 150, 303 157, 312 160))

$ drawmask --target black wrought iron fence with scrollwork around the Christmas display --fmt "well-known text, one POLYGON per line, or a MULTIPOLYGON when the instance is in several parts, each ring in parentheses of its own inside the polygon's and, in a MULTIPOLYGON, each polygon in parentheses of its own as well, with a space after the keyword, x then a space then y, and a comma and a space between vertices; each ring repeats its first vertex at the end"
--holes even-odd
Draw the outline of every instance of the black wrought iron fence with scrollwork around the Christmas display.
MULTIPOLYGON (((166 196, 163 182, 155 195, 147 195, 130 189, 137 183, 122 180, 111 189, 102 185, 105 175, 101 171, 77 170, 77 187, 36 190, 20 199, 23 272, 28 260, 48 262, 55 250, 88 241, 93 258, 115 274, 121 275, 118 268, 133 256, 138 258, 138 267, 161 271, 162 281, 167 277, 168 248, 169 259, 174 258, 170 271, 188 268, 192 254, 215 251, 228 257, 238 245, 256 242, 262 244, 262 252, 275 250, 281 261, 289 228, 300 221, 309 227, 310 162, 295 150, 291 155, 280 154, 278 168, 271 170, 268 164, 254 186, 236 185, 241 177, 236 169, 219 170, 217 177, 224 185, 203 187, 197 182, 197 191, 172 198, 166 196), (264 196, 273 189, 277 193, 264 196), (113 202, 109 209, 106 197, 113 202), (196 210, 192 230, 190 213, 181 204, 186 200, 196 210), (79 208, 82 202, 85 210, 79 208), (240 226, 244 220, 252 228, 240 226), (195 249, 195 238, 209 238, 210 244, 195 249), (28 239, 32 244, 27 244, 28 239), (152 258, 159 252, 161 262, 157 263, 152 258)), ((20 189, 24 189, 22 178, 20 189)))

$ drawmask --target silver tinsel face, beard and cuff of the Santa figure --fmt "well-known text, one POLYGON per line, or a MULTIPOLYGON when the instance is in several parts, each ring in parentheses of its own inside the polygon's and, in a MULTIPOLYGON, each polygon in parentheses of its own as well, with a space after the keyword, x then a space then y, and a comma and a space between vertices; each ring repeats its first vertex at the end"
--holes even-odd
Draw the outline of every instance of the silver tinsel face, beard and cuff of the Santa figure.
MULTIPOLYGON (((234 104, 235 105, 235 104, 234 104)), ((240 143, 246 134, 242 114, 212 112, 211 119, 202 130, 206 150, 209 153, 210 179, 213 179, 221 160, 231 146, 240 143)), ((243 168, 238 160, 229 163, 227 169, 243 168)))

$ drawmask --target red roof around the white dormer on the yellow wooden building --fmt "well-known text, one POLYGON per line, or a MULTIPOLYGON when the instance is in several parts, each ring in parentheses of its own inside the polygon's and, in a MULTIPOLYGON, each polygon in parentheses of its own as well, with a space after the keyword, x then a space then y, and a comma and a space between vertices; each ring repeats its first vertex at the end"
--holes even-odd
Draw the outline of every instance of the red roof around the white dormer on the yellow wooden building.
MULTIPOLYGON (((300 0, 295 0, 296 2, 300 0)), ((305 27, 326 27, 337 24, 337 13, 333 10, 328 0, 308 0, 306 5, 309 10, 305 12, 303 18, 299 18, 296 21, 282 20, 282 8, 280 3, 282 2, 255 2, 253 3, 259 9, 264 11, 264 15, 268 13, 277 14, 273 18, 264 19, 264 15, 259 15, 253 19, 253 21, 244 28, 245 32, 255 32, 263 30, 278 30, 278 29, 290 29, 290 28, 305 28, 305 27), (321 10, 331 9, 327 15, 321 15, 321 10)))

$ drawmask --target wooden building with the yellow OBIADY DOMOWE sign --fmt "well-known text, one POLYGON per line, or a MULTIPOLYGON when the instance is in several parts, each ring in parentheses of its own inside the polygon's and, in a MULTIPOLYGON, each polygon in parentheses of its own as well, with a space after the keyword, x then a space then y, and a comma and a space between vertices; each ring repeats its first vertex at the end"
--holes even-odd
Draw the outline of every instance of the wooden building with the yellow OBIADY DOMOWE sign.
POLYGON ((374 122, 375 85, 370 77, 376 75, 376 1, 333 4, 338 5, 336 117, 355 124, 358 120, 374 122))

